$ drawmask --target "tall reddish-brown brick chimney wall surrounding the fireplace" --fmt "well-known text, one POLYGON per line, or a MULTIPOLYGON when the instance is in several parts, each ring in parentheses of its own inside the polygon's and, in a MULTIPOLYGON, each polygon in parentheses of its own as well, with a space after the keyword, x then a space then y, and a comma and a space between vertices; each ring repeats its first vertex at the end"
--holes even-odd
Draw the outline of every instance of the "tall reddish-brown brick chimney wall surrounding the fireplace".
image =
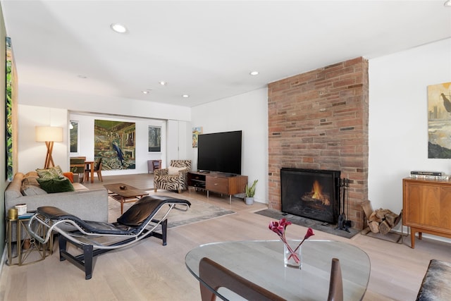
POLYGON ((269 208, 281 208, 280 168, 338 170, 350 179, 346 217, 363 228, 368 89, 368 61, 362 57, 268 85, 269 208))

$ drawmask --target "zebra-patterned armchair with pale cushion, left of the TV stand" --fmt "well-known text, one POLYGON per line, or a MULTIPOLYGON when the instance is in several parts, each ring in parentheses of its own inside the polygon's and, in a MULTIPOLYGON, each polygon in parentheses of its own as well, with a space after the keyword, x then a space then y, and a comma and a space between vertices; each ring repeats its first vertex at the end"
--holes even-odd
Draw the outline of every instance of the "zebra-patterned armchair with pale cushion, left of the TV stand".
POLYGON ((187 173, 191 171, 191 160, 171 160, 168 168, 154 170, 154 190, 187 189, 187 173))

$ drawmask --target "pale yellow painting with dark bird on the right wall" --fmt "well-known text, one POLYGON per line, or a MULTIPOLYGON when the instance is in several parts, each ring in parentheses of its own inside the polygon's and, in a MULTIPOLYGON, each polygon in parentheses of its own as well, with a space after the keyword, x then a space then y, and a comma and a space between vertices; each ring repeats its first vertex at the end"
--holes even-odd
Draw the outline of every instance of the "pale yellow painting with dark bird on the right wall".
POLYGON ((451 158, 451 82, 428 86, 428 158, 451 158))

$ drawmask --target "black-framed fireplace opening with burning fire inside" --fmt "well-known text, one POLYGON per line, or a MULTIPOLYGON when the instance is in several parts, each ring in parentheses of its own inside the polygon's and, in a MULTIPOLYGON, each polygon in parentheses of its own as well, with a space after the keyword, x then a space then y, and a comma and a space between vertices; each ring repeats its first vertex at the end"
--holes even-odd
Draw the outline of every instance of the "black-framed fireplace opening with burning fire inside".
POLYGON ((337 223, 340 211, 340 171, 280 169, 282 211, 337 223))

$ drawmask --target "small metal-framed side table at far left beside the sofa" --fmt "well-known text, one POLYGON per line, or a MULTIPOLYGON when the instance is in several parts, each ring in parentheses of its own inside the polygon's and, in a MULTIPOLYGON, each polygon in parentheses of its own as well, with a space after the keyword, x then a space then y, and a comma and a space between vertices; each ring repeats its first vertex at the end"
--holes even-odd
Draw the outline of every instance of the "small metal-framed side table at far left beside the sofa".
MULTIPOLYGON (((28 231, 27 228, 27 224, 29 221, 30 217, 20 219, 19 216, 18 219, 9 219, 9 217, 6 216, 6 245, 8 247, 8 258, 6 260, 6 264, 8 266, 12 265, 23 266, 25 264, 32 264, 34 262, 40 262, 46 257, 47 244, 40 243, 30 235, 30 232, 28 231), (16 223, 17 225, 16 254, 14 254, 13 252, 13 242, 12 242, 13 223, 16 223), (22 238, 23 230, 25 232, 24 238, 22 238), (27 245, 28 241, 30 242, 30 245, 27 245), (17 262, 14 259, 17 259, 17 262)), ((39 225, 37 231, 38 233, 40 232, 42 233, 42 235, 44 235, 44 228, 42 227, 42 225, 39 225)))

